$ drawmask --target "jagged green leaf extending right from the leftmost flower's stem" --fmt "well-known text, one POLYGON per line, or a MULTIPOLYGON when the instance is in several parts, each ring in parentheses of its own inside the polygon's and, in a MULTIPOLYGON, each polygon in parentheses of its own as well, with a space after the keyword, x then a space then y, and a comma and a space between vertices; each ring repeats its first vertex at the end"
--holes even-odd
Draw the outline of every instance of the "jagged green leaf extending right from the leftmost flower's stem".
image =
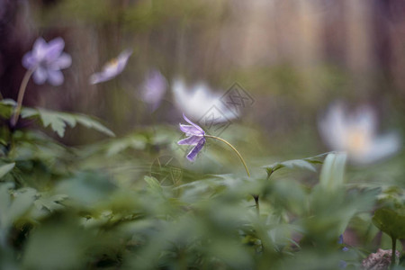
POLYGON ((67 125, 74 128, 76 123, 80 123, 86 128, 100 131, 108 136, 115 136, 112 130, 104 127, 99 121, 83 114, 54 112, 40 108, 23 108, 21 115, 22 118, 39 117, 43 126, 45 128, 50 126, 52 130, 58 133, 59 137, 65 135, 67 125))

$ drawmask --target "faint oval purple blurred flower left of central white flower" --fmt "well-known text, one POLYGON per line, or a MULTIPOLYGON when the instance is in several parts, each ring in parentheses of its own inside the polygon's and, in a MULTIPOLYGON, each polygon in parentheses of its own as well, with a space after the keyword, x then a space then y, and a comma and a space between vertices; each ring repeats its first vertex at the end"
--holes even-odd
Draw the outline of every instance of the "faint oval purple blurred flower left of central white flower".
POLYGON ((157 70, 148 73, 142 88, 142 100, 155 111, 166 94, 167 81, 157 70))

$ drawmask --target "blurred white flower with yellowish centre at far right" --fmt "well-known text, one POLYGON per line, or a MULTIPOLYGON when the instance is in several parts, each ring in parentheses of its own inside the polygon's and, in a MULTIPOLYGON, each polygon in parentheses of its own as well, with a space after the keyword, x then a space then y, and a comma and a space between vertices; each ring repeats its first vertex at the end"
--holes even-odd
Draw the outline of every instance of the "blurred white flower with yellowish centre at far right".
POLYGON ((342 103, 333 103, 319 122, 320 136, 332 150, 345 151, 357 164, 390 157, 401 148, 400 136, 391 132, 377 136, 374 110, 365 106, 347 113, 342 103))

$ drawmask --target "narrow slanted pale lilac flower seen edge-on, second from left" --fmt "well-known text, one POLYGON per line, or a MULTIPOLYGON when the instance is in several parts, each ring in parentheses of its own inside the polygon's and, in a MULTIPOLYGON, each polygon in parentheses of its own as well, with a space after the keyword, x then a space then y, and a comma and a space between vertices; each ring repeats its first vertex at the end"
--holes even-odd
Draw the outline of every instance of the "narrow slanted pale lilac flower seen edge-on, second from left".
POLYGON ((95 85, 118 76, 127 65, 128 58, 130 58, 131 54, 132 51, 130 49, 122 51, 117 58, 113 58, 103 66, 102 72, 96 72, 90 76, 90 84, 95 85))

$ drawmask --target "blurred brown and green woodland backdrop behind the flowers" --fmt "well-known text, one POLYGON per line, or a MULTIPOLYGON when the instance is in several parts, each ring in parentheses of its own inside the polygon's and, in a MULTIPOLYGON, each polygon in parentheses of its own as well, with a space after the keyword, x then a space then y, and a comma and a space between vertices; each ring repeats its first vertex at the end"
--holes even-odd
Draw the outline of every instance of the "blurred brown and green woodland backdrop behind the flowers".
MULTIPOLYGON (((1 0, 0 85, 16 99, 23 54, 62 37, 73 65, 62 86, 29 84, 24 103, 97 116, 118 136, 176 125, 172 90, 151 112, 140 98, 151 69, 224 93, 238 82, 255 103, 225 131, 239 148, 273 156, 328 150, 317 121, 329 103, 370 104, 380 130, 405 127, 405 2, 401 0, 1 0), (88 77, 133 49, 118 78, 88 77), (247 132, 236 132, 248 129, 247 132), (264 147, 265 146, 265 147, 264 147)), ((67 145, 103 138, 67 130, 67 145)), ((247 154, 248 155, 248 154, 247 154)))

